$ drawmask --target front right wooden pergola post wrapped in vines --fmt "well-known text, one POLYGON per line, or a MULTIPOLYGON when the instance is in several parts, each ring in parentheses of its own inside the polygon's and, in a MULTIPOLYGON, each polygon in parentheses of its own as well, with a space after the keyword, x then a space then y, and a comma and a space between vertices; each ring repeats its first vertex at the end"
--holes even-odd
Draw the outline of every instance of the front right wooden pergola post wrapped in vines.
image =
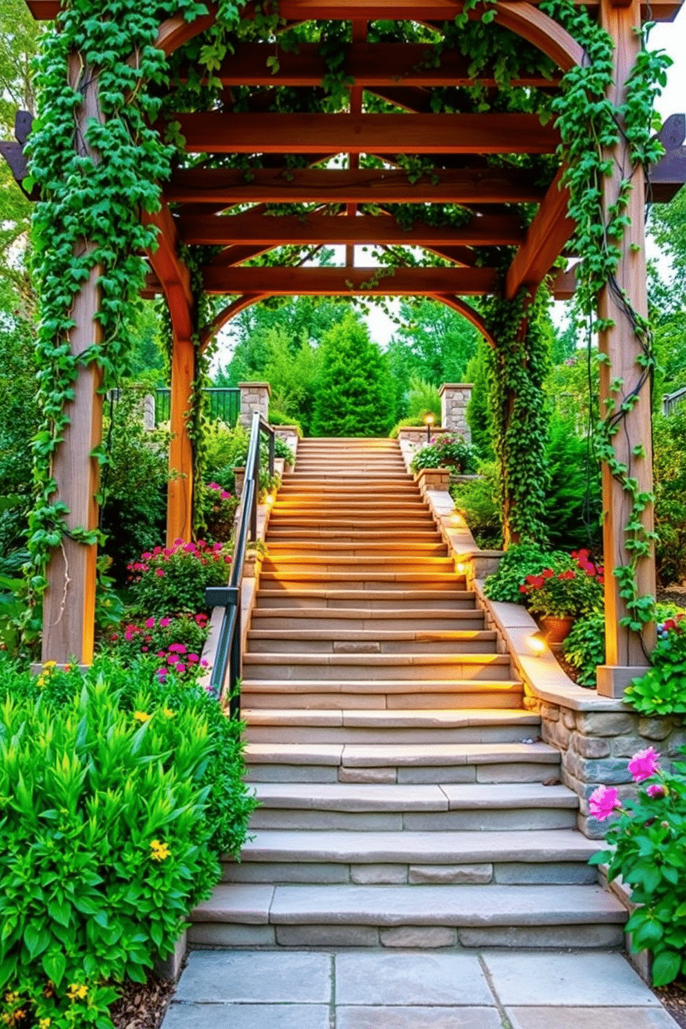
MULTIPOLYGON (((601 0, 601 23, 615 42, 615 84, 612 99, 615 104, 624 102, 624 83, 635 65, 640 48, 637 30, 641 26, 640 0, 631 0, 628 6, 615 7, 611 0, 601 0)), ((617 268, 617 286, 623 290, 636 311, 647 317, 646 296, 646 254, 645 254, 645 183, 641 166, 633 167, 628 146, 622 139, 611 151, 613 174, 605 180, 605 209, 615 203, 622 180, 633 183, 627 214, 630 225, 626 226, 621 241, 622 256, 617 268)), ((600 297, 599 315, 614 321, 614 326, 600 334, 600 349, 609 358, 608 364, 601 364, 601 413, 606 411, 605 400, 612 398, 619 404, 637 385, 641 367, 637 358, 641 347, 631 325, 624 315, 615 294, 606 287, 600 297), (619 394, 610 390, 613 379, 621 379, 623 387, 619 394)), ((652 491, 652 443, 650 383, 646 382, 639 394, 639 402, 628 412, 620 432, 614 436, 617 458, 628 465, 631 476, 636 477, 641 490, 652 491), (636 457, 631 450, 642 445, 645 457, 636 457)), ((628 494, 614 481, 607 467, 603 468, 603 545, 605 554, 605 640, 606 664, 598 673, 598 691, 606 697, 621 697, 631 678, 641 674, 648 664, 646 651, 655 643, 655 629, 646 630, 643 641, 637 633, 619 625, 626 615, 626 607, 619 596, 617 580, 612 569, 625 565, 630 554, 624 546, 624 526, 630 512, 628 494), (644 649, 645 648, 645 649, 644 649)), ((653 511, 649 508, 643 516, 648 529, 653 526, 653 511)), ((643 560, 639 565, 638 586, 642 595, 655 593, 655 559, 643 560)))

